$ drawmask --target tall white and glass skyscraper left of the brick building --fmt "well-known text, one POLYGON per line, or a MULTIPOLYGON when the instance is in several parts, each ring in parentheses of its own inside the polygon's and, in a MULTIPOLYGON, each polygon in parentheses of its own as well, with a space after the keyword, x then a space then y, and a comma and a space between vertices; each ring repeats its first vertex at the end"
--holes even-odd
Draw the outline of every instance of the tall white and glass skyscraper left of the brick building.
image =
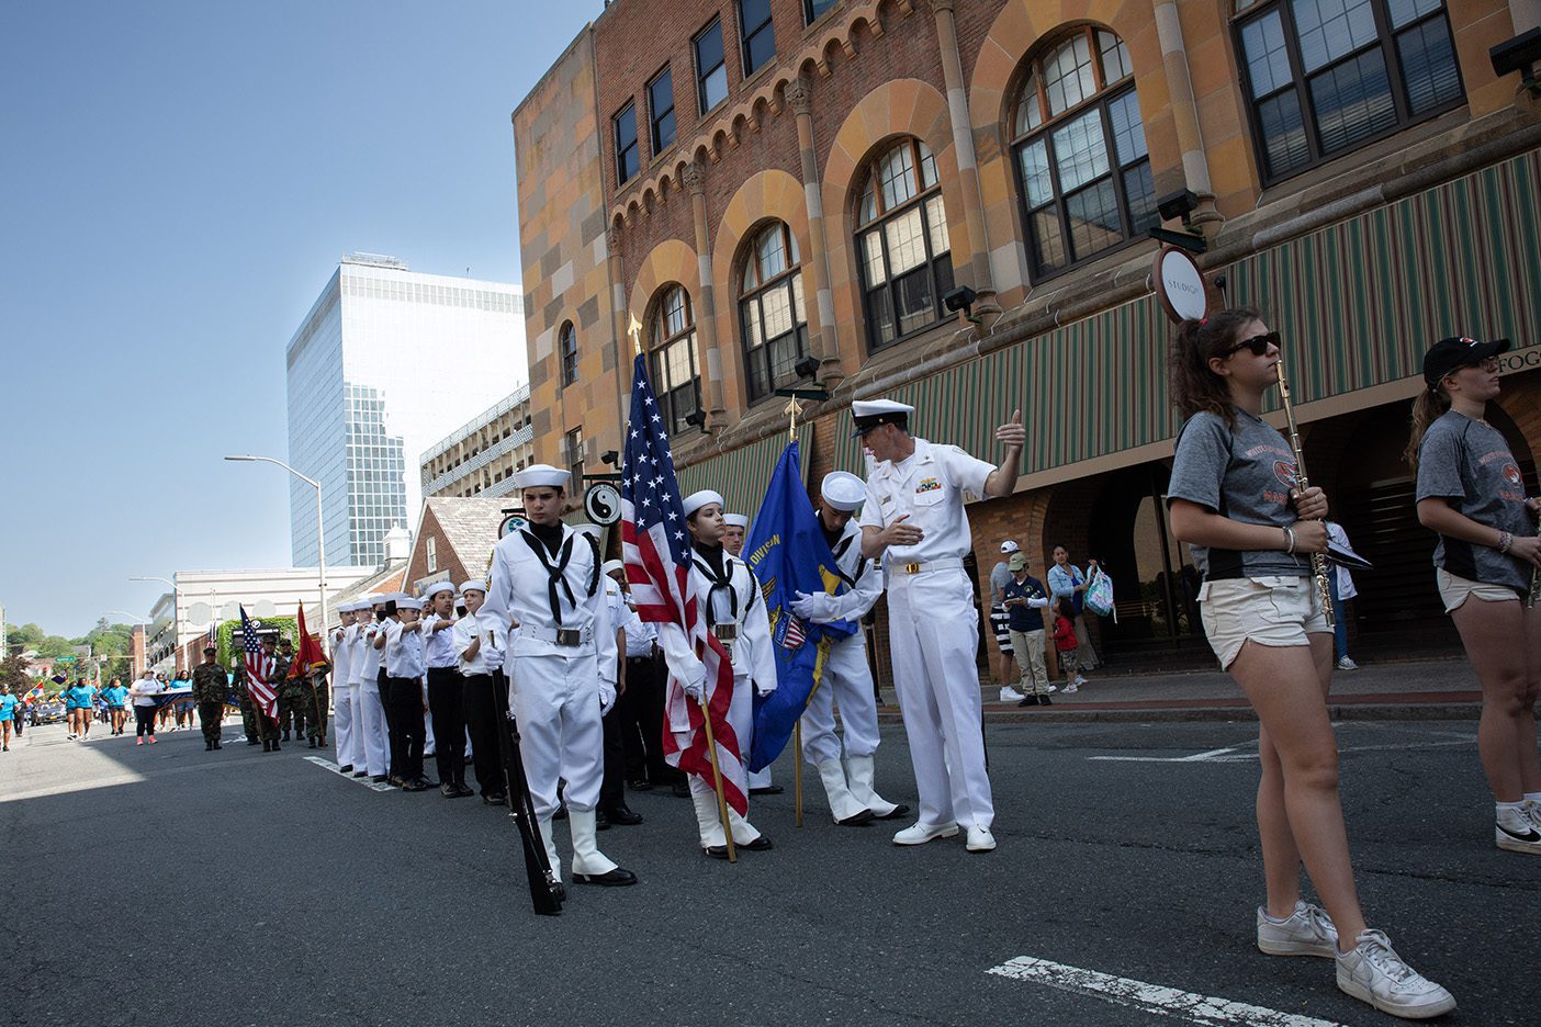
MULTIPOLYGON (((288 343, 288 462, 321 482, 327 564, 382 564, 416 522, 418 456, 527 376, 513 285, 344 259, 288 343)), ((314 567, 316 493, 290 480, 294 567, 314 567)))

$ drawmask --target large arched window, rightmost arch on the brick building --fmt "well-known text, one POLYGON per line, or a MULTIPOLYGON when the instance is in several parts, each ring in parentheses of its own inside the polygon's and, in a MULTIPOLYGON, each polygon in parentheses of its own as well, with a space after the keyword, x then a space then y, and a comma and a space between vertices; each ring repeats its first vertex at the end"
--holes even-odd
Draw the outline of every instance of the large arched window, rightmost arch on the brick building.
POLYGON ((1077 28, 1029 62, 1012 149, 1036 277, 1160 223, 1134 65, 1110 31, 1077 28))

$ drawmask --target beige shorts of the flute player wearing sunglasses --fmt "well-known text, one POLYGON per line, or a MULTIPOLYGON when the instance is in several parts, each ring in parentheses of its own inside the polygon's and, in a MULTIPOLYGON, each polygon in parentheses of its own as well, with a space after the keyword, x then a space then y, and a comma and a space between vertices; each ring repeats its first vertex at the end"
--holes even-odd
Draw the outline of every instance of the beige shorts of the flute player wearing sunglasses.
POLYGON ((1225 577, 1199 587, 1210 648, 1230 670, 1248 639, 1259 645, 1308 645, 1331 633, 1310 577, 1225 577))

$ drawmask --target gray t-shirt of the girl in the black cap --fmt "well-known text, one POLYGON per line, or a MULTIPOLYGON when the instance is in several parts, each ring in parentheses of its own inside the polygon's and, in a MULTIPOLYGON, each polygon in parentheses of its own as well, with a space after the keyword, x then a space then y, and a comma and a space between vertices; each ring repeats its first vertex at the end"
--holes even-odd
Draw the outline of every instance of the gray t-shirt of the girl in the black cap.
MULTIPOLYGON (((1453 410, 1429 425, 1418 443, 1418 499, 1430 497, 1449 499, 1456 513, 1499 531, 1536 533, 1519 460, 1502 433, 1453 410)), ((1489 585, 1530 588, 1530 570, 1489 545, 1439 536, 1435 567, 1489 585)))

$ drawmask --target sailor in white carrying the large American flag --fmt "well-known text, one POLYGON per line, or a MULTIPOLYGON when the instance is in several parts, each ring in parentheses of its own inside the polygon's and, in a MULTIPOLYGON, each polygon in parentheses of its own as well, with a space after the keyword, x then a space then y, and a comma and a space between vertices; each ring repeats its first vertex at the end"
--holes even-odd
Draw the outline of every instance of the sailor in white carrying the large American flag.
MULTIPOLYGON (((749 758, 754 736, 754 694, 750 688, 767 696, 775 691, 775 651, 770 648, 770 617, 766 613, 760 582, 749 565, 723 548, 723 497, 710 490, 692 493, 681 503, 686 525, 690 530, 690 590, 697 607, 706 616, 707 630, 727 650, 734 667, 734 697, 727 707, 727 722, 738 736, 740 762, 749 758)), ((681 631, 680 625, 661 624, 660 637, 681 631)), ((675 645, 670 651, 676 651, 675 645)), ((707 701, 715 682, 704 684, 707 701)), ((684 721, 684 702, 670 701, 670 730, 689 728, 684 721)), ((717 795, 700 778, 690 778, 690 799, 695 802, 695 821, 701 831, 701 850, 715 859, 727 858, 727 839, 718 818, 717 795)), ((727 810, 727 822, 734 831, 734 845, 749 851, 770 848, 770 839, 737 810, 727 810)))

